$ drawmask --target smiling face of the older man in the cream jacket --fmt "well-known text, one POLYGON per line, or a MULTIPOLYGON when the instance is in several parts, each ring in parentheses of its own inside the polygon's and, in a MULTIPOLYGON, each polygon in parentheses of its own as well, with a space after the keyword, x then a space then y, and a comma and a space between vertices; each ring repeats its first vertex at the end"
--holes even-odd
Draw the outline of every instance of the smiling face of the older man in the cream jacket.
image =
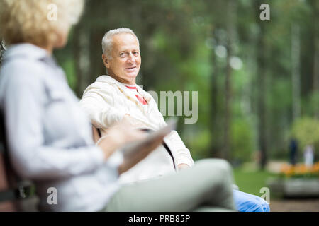
POLYGON ((138 40, 126 33, 113 36, 111 56, 111 59, 103 57, 110 76, 122 83, 134 85, 141 62, 138 40))

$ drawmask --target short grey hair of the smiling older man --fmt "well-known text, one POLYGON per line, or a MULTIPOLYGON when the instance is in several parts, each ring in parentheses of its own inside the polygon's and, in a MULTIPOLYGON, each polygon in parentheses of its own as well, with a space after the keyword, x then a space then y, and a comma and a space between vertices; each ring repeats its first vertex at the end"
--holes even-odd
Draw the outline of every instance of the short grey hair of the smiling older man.
MULTIPOLYGON (((118 29, 109 30, 108 32, 106 32, 106 34, 104 35, 102 39, 102 52, 109 59, 111 59, 111 51, 113 47, 114 35, 119 35, 123 33, 133 35, 134 37, 136 37, 136 40, 138 40, 138 37, 135 35, 133 30, 130 30, 130 28, 118 28, 118 29)), ((140 42, 138 42, 138 47, 140 47, 140 42)))

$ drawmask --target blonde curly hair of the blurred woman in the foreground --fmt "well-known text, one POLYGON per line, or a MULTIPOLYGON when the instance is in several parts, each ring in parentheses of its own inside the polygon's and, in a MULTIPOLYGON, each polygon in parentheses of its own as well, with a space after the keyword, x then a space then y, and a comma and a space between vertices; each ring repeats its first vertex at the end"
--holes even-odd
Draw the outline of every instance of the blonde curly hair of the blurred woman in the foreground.
POLYGON ((83 7, 84 0, 0 0, 0 37, 6 44, 46 46, 77 23, 83 7))

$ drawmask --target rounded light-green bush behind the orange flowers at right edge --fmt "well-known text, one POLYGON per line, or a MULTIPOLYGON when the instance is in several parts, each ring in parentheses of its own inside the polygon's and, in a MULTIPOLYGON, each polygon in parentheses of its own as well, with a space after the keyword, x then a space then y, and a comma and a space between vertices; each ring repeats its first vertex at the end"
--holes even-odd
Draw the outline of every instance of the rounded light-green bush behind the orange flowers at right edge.
POLYGON ((303 149, 306 145, 314 145, 319 150, 319 120, 304 117, 296 120, 291 129, 292 136, 300 143, 303 149))

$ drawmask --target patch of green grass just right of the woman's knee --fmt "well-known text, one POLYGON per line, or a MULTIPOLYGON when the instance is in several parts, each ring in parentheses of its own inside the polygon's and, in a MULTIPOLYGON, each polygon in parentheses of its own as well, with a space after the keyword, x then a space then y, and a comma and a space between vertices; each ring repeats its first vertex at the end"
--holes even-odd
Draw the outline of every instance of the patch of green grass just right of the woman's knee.
POLYGON ((242 169, 234 169, 233 173, 235 184, 239 187, 240 191, 256 196, 262 196, 263 193, 260 193, 260 189, 267 187, 267 179, 275 175, 267 171, 244 171, 242 169))

